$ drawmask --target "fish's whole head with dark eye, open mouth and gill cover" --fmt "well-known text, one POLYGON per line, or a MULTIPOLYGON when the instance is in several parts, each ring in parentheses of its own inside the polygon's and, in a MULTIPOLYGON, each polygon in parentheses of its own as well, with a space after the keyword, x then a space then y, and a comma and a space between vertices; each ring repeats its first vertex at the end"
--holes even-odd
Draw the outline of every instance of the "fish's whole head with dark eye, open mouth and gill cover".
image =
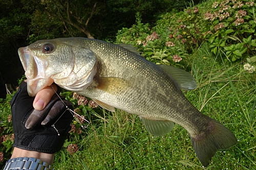
POLYGON ((82 91, 96 73, 97 57, 74 38, 38 40, 20 47, 18 55, 30 96, 53 82, 67 90, 82 91))

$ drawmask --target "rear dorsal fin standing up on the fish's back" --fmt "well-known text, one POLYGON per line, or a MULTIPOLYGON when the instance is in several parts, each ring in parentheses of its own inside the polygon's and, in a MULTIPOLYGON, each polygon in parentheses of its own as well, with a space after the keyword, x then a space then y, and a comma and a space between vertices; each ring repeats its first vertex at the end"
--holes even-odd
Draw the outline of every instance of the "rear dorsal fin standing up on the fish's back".
POLYGON ((197 88, 197 83, 194 77, 187 71, 168 65, 157 65, 164 72, 166 72, 171 78, 173 78, 184 90, 193 90, 197 88))

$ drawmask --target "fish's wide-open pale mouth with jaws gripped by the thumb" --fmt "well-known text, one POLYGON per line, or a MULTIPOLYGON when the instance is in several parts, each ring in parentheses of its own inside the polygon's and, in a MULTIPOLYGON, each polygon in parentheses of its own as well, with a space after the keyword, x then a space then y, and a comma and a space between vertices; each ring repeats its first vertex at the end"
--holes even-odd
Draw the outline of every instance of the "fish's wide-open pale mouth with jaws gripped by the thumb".
POLYGON ((28 46, 20 47, 18 55, 25 70, 29 96, 35 96, 38 91, 54 82, 53 79, 47 78, 45 74, 48 65, 47 60, 34 55, 28 46))

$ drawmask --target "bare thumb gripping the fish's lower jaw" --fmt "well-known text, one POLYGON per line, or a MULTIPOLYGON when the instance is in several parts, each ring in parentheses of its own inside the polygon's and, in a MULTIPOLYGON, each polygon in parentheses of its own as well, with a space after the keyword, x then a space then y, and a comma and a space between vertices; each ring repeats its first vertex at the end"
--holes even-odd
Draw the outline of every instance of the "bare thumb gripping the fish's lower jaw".
MULTIPOLYGON (((52 84, 55 91, 57 91, 57 86, 55 84, 52 84)), ((36 110, 42 110, 46 107, 46 105, 51 100, 53 94, 55 92, 50 86, 47 86, 46 88, 38 91, 38 93, 35 96, 35 100, 33 102, 33 107, 36 110)))

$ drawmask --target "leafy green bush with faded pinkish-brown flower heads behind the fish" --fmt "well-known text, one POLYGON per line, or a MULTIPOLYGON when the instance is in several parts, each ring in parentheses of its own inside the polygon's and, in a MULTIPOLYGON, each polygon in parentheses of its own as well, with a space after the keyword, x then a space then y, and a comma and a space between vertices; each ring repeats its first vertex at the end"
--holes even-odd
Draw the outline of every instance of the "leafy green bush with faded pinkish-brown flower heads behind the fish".
POLYGON ((124 37, 122 42, 132 43, 156 64, 177 64, 170 63, 173 56, 186 58, 205 41, 212 53, 226 60, 252 57, 248 61, 255 61, 255 6, 249 0, 206 2, 162 15, 151 30, 137 22, 131 29, 120 31, 117 42, 124 37))

